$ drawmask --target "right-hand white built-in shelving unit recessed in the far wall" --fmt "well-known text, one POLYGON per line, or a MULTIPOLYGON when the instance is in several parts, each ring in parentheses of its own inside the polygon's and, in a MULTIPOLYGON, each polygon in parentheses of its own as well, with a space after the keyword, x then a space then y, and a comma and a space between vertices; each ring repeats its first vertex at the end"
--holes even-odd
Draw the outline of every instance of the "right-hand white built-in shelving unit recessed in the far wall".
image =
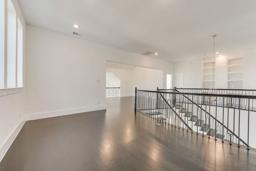
POLYGON ((243 88, 243 57, 228 58, 227 85, 228 89, 243 88))

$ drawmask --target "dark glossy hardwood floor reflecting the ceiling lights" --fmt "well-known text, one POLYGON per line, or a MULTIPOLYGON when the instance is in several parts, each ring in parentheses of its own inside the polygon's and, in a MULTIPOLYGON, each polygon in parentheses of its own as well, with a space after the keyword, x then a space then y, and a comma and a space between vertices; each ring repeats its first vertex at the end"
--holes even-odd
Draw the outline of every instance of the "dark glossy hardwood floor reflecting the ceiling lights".
POLYGON ((27 121, 0 171, 256 171, 256 150, 134 114, 134 98, 107 110, 27 121))

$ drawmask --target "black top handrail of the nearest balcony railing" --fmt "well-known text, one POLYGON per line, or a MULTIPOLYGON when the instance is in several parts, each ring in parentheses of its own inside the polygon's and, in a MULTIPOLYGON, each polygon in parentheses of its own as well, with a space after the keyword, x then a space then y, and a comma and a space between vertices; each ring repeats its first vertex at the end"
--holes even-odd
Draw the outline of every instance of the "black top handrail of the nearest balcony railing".
POLYGON ((230 97, 230 98, 244 98, 244 99, 256 99, 256 95, 235 95, 235 94, 214 94, 214 93, 187 93, 187 92, 168 92, 168 91, 153 91, 153 90, 141 90, 137 91, 146 91, 152 93, 167 93, 167 94, 187 94, 187 95, 199 95, 199 96, 212 96, 212 97, 230 97))

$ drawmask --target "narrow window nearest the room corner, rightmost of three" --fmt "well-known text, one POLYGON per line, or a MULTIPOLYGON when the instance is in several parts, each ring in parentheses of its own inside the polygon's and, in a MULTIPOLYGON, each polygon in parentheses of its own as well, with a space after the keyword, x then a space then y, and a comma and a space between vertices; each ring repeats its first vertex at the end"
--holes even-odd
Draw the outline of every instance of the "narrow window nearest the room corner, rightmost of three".
POLYGON ((23 30, 18 18, 17 32, 17 87, 23 87, 23 30))

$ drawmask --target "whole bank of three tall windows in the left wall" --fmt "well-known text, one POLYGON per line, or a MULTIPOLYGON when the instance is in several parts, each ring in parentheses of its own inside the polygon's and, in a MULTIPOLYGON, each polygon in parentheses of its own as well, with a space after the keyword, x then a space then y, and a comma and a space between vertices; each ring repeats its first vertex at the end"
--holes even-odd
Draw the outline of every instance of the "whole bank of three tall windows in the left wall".
POLYGON ((22 23, 12 1, 0 0, 0 89, 23 87, 22 71, 22 23))

